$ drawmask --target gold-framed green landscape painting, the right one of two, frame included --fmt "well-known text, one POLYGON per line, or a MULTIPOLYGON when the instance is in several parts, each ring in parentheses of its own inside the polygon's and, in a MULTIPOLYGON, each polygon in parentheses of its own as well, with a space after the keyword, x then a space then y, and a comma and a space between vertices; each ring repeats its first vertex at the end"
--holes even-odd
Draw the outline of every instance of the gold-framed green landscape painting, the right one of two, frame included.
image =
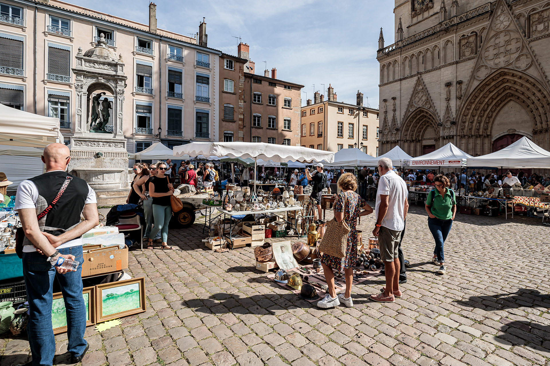
POLYGON ((146 310, 145 278, 96 285, 96 322, 128 317, 146 310))

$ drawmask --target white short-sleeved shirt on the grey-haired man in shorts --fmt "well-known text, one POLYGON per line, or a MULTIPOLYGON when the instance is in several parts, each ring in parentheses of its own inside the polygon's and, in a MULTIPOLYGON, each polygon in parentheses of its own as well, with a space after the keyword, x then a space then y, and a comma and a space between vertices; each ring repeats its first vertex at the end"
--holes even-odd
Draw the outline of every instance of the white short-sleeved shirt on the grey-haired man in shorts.
POLYGON ((405 228, 405 218, 403 211, 405 209, 405 200, 408 198, 407 185, 393 170, 390 170, 378 182, 378 191, 376 192, 376 210, 375 218, 378 219, 378 209, 380 207, 380 195, 388 195, 388 211, 382 219, 381 225, 390 230, 403 230, 405 228))

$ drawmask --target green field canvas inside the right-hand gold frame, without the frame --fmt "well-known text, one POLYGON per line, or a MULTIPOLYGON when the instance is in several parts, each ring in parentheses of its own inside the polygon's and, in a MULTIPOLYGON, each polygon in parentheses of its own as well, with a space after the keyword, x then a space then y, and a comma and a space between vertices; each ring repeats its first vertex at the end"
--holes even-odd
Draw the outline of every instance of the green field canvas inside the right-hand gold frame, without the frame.
POLYGON ((139 283, 101 290, 101 315, 103 317, 123 311, 141 308, 139 283))

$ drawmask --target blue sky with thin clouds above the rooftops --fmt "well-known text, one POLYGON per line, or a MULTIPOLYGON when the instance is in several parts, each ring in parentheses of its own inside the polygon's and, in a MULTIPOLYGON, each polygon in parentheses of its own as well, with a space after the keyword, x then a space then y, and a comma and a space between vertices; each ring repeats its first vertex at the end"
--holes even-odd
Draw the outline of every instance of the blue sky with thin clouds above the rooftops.
MULTIPOLYGON (((149 22, 149 1, 68 0, 85 8, 149 22)), ((307 98, 332 84, 341 102, 355 104, 359 89, 378 108, 378 35, 393 43, 393 1, 173 1, 157 0, 158 27, 195 34, 206 18, 208 47, 237 54, 241 37, 250 45, 256 73, 277 68, 277 78, 304 85, 307 98), (315 84, 315 89, 313 88, 315 84), (323 85, 324 84, 324 87, 323 85)), ((302 93, 303 105, 306 94, 302 93)), ((364 99, 366 105, 367 99, 364 99)))

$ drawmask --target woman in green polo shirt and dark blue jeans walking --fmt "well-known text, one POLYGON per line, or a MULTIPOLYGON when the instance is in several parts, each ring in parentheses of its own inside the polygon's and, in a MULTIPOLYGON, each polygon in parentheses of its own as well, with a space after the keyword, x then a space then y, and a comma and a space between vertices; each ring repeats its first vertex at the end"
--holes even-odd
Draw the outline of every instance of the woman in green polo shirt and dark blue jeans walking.
POLYGON ((456 198, 454 191, 449 189, 449 178, 439 174, 433 179, 436 189, 428 194, 426 199, 426 212, 428 213, 428 228, 436 240, 436 248, 433 250, 432 262, 438 264, 437 273, 445 274, 445 258, 443 256, 443 244, 450 228, 453 226, 456 215, 456 198))

